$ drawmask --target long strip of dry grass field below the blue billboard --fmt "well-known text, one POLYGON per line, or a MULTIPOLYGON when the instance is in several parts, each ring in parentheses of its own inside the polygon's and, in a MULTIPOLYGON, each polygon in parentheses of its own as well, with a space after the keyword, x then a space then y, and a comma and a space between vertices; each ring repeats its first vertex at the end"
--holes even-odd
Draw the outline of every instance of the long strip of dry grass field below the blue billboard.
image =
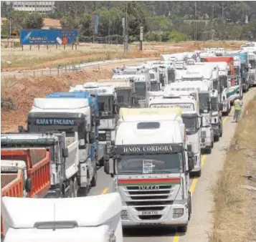
POLYGON ((2 71, 39 69, 45 67, 57 67, 68 64, 82 62, 93 62, 105 59, 125 59, 135 57, 157 57, 159 54, 175 53, 182 51, 193 51, 204 49, 205 47, 238 48, 243 42, 180 42, 180 43, 159 43, 143 42, 143 52, 138 52, 138 43, 133 43, 129 47, 129 52, 123 52, 122 45, 108 44, 82 44, 77 50, 71 47, 37 46, 22 48, 2 48, 1 49, 1 69, 2 71), (11 62, 8 64, 6 61, 11 62))

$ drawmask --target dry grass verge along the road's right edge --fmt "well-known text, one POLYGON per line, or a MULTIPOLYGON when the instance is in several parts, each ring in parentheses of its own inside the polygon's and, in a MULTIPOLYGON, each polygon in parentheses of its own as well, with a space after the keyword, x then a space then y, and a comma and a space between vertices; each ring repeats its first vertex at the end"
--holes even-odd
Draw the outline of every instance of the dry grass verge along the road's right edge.
POLYGON ((214 188, 214 226, 210 242, 255 241, 250 235, 255 232, 256 210, 252 206, 252 196, 243 188, 247 181, 242 177, 247 174, 247 160, 255 153, 255 110, 256 97, 245 107, 214 188), (252 213, 254 216, 249 216, 252 213))

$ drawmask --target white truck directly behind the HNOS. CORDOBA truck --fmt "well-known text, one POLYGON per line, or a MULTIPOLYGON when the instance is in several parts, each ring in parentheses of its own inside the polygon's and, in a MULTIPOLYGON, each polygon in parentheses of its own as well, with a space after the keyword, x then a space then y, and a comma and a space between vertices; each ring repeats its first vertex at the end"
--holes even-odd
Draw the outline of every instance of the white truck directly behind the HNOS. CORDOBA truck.
POLYGON ((194 169, 191 175, 200 177, 202 173, 202 155, 201 155, 201 123, 202 117, 199 113, 199 92, 194 90, 194 95, 187 89, 187 84, 177 82, 169 84, 164 89, 163 97, 151 99, 148 107, 161 108, 165 110, 179 107, 181 117, 186 127, 186 145, 188 150, 194 153, 194 169), (179 90, 178 90, 179 89, 179 90), (182 90, 181 90, 182 89, 182 90), (184 89, 186 89, 184 91, 184 89), (197 100, 196 97, 197 96, 197 100))

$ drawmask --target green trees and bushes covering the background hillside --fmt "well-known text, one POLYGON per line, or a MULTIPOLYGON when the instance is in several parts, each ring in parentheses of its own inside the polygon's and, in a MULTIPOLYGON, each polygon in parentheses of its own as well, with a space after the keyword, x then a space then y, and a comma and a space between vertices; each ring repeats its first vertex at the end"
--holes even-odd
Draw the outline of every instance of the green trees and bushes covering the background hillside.
MULTIPOLYGON (((255 39, 255 1, 127 1, 129 41, 138 41, 140 26, 146 41, 255 39), (196 3, 196 4, 195 4, 196 3), (249 24, 245 24, 248 19, 249 24), (196 21, 195 21, 196 20, 196 21)), ((53 14, 42 17, 61 19, 65 29, 79 29, 80 41, 93 40, 93 14, 99 14, 97 37, 122 39, 124 1, 56 1, 53 14)), ((10 11, 4 4, 1 16, 11 16, 12 28, 39 28, 35 14, 10 11)), ((9 23, 2 27, 8 33, 9 23)))

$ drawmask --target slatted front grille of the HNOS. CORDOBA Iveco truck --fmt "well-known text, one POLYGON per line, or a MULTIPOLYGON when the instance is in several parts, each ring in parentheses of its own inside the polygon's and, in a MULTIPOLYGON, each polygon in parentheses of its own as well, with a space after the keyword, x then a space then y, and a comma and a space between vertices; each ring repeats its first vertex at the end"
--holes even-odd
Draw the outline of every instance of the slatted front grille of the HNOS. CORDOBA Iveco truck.
POLYGON ((141 190, 138 185, 123 187, 125 195, 130 198, 126 204, 133 206, 138 211, 138 219, 144 221, 161 219, 166 205, 173 203, 172 200, 168 200, 171 193, 174 192, 173 186, 158 185, 157 187, 159 189, 156 190, 141 190), (147 214, 148 211, 150 214, 147 214))

